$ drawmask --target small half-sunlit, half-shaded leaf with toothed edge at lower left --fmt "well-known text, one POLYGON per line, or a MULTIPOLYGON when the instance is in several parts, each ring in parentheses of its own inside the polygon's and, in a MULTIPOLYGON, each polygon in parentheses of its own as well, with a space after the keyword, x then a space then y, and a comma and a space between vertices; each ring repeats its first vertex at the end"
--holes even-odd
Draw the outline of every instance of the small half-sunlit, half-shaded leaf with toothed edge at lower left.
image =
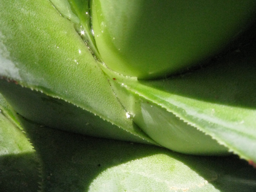
MULTIPOLYGON (((2 104, 2 98, 0 100, 2 104)), ((38 182, 41 181, 39 168, 38 155, 24 132, 0 112, 1 191, 39 190, 38 182)))

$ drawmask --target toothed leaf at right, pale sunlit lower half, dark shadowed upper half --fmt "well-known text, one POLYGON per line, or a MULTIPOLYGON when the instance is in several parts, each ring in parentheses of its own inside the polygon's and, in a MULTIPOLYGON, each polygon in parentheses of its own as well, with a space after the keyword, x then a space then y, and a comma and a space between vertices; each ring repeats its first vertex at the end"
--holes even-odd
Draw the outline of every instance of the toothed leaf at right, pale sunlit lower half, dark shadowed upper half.
MULTIPOLYGON (((229 147, 230 151, 241 158, 255 161, 254 61, 255 41, 251 41, 250 45, 241 49, 241 53, 229 53, 215 66, 200 69, 185 76, 159 81, 137 81, 118 76, 117 73, 107 73, 110 74, 110 78, 115 79, 112 82, 125 86, 127 90, 156 103, 159 107, 166 108, 191 126, 212 136, 220 144, 229 147), (236 74, 238 74, 237 77, 236 74), (219 79, 220 76, 222 78, 219 79), (207 92, 208 89, 214 87, 207 85, 208 82, 213 82, 216 92, 220 92, 220 99, 214 98, 211 91, 207 92), (225 83, 230 82, 228 89, 237 91, 231 93, 228 91, 225 94, 225 89, 222 90, 221 87, 222 82, 224 86, 225 83), (206 88, 203 89, 203 87, 206 88), (200 92, 197 93, 197 90, 200 92), (245 95, 240 95, 240 93, 245 95), (200 94, 204 96, 204 99, 200 99, 200 94), (236 99, 234 97, 236 94, 242 96, 242 100, 236 99), (208 98, 212 101, 204 101, 208 98), (226 105, 226 102, 229 102, 231 106, 226 105), (245 107, 239 106, 241 104, 245 107)), ((103 70, 107 69, 103 68, 103 70)))

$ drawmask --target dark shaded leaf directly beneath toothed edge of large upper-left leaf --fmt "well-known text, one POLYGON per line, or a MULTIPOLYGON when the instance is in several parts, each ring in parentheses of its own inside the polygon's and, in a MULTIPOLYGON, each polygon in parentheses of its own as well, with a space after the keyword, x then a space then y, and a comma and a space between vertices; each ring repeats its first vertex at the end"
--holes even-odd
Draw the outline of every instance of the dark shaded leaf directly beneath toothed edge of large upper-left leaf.
MULTIPOLYGON (((6 80, 0 80, 0 90, 16 111, 41 125, 84 135, 150 144, 99 116, 61 99, 49 97, 6 80)), ((135 124, 134 130, 143 135, 135 124)))

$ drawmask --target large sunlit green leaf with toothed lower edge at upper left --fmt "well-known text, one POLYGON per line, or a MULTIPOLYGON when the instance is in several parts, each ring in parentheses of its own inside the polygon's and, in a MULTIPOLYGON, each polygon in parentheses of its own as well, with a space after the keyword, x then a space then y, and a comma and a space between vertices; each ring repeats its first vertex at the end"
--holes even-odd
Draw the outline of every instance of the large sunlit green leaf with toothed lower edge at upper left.
MULTIPOLYGON (((154 143, 126 117, 127 111, 73 23, 51 2, 4 0, 0 7, 1 77, 71 102, 121 127, 131 137, 154 143)), ((27 107, 17 111, 23 114, 27 107)))

